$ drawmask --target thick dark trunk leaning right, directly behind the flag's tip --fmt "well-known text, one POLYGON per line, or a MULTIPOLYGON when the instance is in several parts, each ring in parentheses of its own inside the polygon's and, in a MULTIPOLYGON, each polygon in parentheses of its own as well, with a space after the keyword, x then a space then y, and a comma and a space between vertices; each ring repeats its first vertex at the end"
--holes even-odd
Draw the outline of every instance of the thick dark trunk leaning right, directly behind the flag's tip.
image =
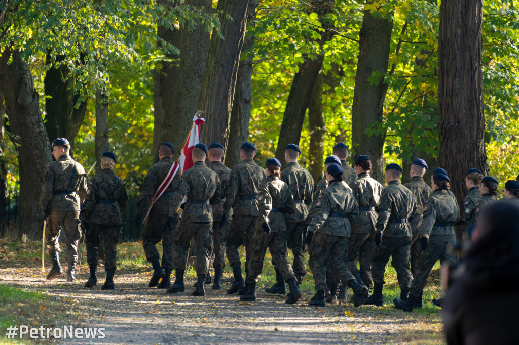
POLYGON ((203 75, 198 109, 204 111, 206 123, 201 126, 200 142, 220 142, 227 148, 230 111, 233 106, 236 75, 243 47, 250 0, 218 1, 222 40, 213 32, 203 75), (227 15, 231 19, 227 19, 227 15))

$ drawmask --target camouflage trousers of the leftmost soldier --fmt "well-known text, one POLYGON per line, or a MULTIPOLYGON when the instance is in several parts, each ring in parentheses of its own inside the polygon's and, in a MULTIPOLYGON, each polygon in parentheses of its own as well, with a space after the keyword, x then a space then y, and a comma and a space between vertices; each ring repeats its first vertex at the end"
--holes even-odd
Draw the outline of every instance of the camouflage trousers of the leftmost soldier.
POLYGON ((65 261, 67 264, 77 262, 77 242, 81 238, 79 227, 79 211, 52 211, 47 217, 47 227, 45 228, 45 242, 49 254, 59 253, 61 227, 65 233, 65 261))

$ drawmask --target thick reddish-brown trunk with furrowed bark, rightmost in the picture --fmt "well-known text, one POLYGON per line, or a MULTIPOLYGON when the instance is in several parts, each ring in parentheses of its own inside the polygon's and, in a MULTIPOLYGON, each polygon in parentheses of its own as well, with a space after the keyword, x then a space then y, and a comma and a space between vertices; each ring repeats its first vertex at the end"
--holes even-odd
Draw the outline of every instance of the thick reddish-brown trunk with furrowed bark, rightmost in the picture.
POLYGON ((470 168, 488 171, 482 94, 482 0, 440 5, 438 130, 440 165, 461 204, 470 168))

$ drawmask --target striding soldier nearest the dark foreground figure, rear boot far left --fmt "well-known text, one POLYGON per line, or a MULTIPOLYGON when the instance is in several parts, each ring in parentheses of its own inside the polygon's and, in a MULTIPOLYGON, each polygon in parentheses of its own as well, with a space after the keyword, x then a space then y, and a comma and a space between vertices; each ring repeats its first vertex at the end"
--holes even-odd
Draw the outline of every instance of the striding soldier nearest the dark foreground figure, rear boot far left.
POLYGON ((444 174, 433 177, 433 193, 424 207, 424 219, 420 226, 420 257, 413 274, 409 297, 395 298, 397 308, 412 311, 416 301, 427 283, 427 277, 438 259, 442 265, 454 266, 458 263, 458 255, 452 251, 456 245, 456 234, 453 225, 459 218, 458 203, 448 196, 449 178, 444 174))

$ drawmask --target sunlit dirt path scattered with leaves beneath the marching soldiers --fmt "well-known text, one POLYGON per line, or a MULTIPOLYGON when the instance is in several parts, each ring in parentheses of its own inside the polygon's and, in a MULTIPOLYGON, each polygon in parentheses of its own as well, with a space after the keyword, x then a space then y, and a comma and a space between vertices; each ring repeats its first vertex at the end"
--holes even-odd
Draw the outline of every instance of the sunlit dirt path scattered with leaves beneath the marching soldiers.
MULTIPOLYGON (((116 290, 101 291, 100 285, 85 289, 87 272, 75 284, 65 275, 51 282, 36 267, 7 268, 0 265, 0 283, 46 291, 77 300, 83 318, 74 326, 104 327, 104 339, 67 339, 67 343, 387 343, 407 342, 402 333, 413 322, 435 324, 439 315, 395 311, 389 307, 351 304, 311 308, 306 304, 313 291, 304 291, 297 305, 284 304, 284 297, 260 291, 255 303, 240 303, 238 296, 207 289, 205 297, 193 297, 193 281, 186 291, 174 295, 147 287, 145 272, 117 271, 116 290)), ((224 281, 224 287, 230 284, 224 281)), ((209 285, 206 285, 209 286, 209 285)))

